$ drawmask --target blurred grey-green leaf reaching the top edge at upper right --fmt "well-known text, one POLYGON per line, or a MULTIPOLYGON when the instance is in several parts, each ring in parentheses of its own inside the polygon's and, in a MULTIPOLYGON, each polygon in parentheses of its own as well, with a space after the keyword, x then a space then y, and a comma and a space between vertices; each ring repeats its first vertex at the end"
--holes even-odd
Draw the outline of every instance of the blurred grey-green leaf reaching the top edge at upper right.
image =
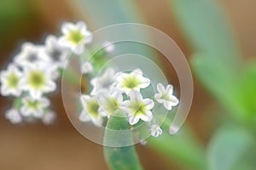
POLYGON ((171 6, 185 36, 196 52, 221 54, 232 59, 241 55, 233 30, 215 0, 171 0, 171 6))

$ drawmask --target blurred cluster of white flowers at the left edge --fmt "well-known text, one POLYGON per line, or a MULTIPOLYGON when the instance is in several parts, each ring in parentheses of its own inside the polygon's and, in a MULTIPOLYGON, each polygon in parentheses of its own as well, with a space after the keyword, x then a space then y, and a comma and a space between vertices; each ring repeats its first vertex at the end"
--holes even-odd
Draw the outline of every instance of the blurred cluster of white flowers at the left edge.
MULTIPOLYGON (((56 89, 56 80, 66 65, 68 54, 82 54, 91 41, 84 22, 64 23, 61 36, 49 35, 43 45, 25 42, 19 54, 0 73, 1 94, 14 96, 14 104, 5 117, 12 123, 40 119, 45 124, 54 121, 46 95, 56 89)), ((90 65, 90 64, 88 64, 90 65)))

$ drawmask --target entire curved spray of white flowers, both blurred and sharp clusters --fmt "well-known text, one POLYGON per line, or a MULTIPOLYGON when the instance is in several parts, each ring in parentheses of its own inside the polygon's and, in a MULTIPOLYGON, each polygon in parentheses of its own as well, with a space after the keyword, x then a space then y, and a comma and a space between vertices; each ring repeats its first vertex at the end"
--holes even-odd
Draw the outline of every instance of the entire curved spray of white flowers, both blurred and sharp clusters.
POLYGON ((131 128, 146 122, 148 132, 158 137, 162 129, 156 121, 154 108, 157 110, 160 105, 171 111, 178 104, 172 85, 158 83, 157 92, 145 97, 148 96, 145 89, 150 87, 151 80, 140 69, 121 72, 119 68, 107 68, 96 75, 102 68, 102 55, 112 52, 114 45, 105 42, 105 54, 84 60, 84 52, 90 54, 85 45, 91 41, 92 34, 84 22, 79 21, 76 24, 65 22, 61 26, 61 36, 49 35, 43 45, 24 43, 13 62, 0 72, 0 94, 15 97, 13 107, 5 117, 12 123, 35 119, 45 124, 53 122, 55 113, 49 109, 47 95, 56 90, 56 81, 67 65, 68 55, 73 52, 81 61, 81 75, 90 82, 86 87, 90 89, 89 93, 80 96, 79 120, 102 126, 116 111, 122 111, 131 128))

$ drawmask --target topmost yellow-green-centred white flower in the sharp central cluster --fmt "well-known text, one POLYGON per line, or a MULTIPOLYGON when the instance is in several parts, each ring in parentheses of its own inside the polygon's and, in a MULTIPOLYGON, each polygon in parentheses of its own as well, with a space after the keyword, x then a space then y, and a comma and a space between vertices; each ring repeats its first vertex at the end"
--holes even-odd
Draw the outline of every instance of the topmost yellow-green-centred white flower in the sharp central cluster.
POLYGON ((140 92, 141 88, 147 88, 150 84, 150 80, 146 77, 143 77, 143 71, 136 69, 130 74, 120 73, 116 77, 116 88, 129 94, 131 90, 137 90, 140 92))

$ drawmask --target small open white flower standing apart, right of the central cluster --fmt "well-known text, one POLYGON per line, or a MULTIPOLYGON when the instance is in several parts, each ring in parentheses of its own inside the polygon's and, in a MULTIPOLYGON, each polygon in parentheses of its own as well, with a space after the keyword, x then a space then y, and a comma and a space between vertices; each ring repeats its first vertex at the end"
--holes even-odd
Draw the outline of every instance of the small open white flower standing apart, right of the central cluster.
POLYGON ((164 104, 164 106, 166 107, 166 110, 171 111, 172 106, 175 106, 178 104, 177 97, 172 95, 173 93, 172 85, 169 84, 165 88, 161 83, 158 83, 156 88, 159 94, 154 94, 154 98, 160 104, 164 104))

